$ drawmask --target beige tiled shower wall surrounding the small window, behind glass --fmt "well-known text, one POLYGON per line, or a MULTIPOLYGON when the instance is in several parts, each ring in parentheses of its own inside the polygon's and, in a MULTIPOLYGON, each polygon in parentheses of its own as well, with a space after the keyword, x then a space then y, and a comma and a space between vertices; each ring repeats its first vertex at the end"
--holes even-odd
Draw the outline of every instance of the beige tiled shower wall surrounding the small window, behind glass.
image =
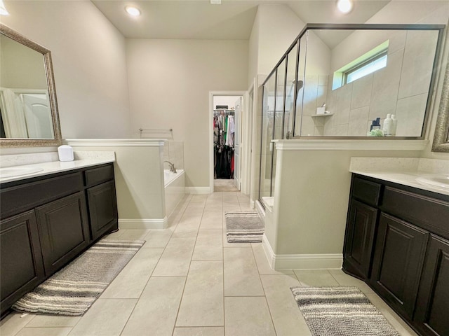
POLYGON ((396 114, 398 137, 419 137, 431 79, 435 38, 399 31, 389 41, 387 66, 332 90, 328 76, 306 76, 301 135, 366 136, 372 120, 396 114), (327 88, 327 90, 326 90, 327 88), (328 93, 326 93, 328 92, 328 93), (333 116, 315 117, 326 102, 333 116))

